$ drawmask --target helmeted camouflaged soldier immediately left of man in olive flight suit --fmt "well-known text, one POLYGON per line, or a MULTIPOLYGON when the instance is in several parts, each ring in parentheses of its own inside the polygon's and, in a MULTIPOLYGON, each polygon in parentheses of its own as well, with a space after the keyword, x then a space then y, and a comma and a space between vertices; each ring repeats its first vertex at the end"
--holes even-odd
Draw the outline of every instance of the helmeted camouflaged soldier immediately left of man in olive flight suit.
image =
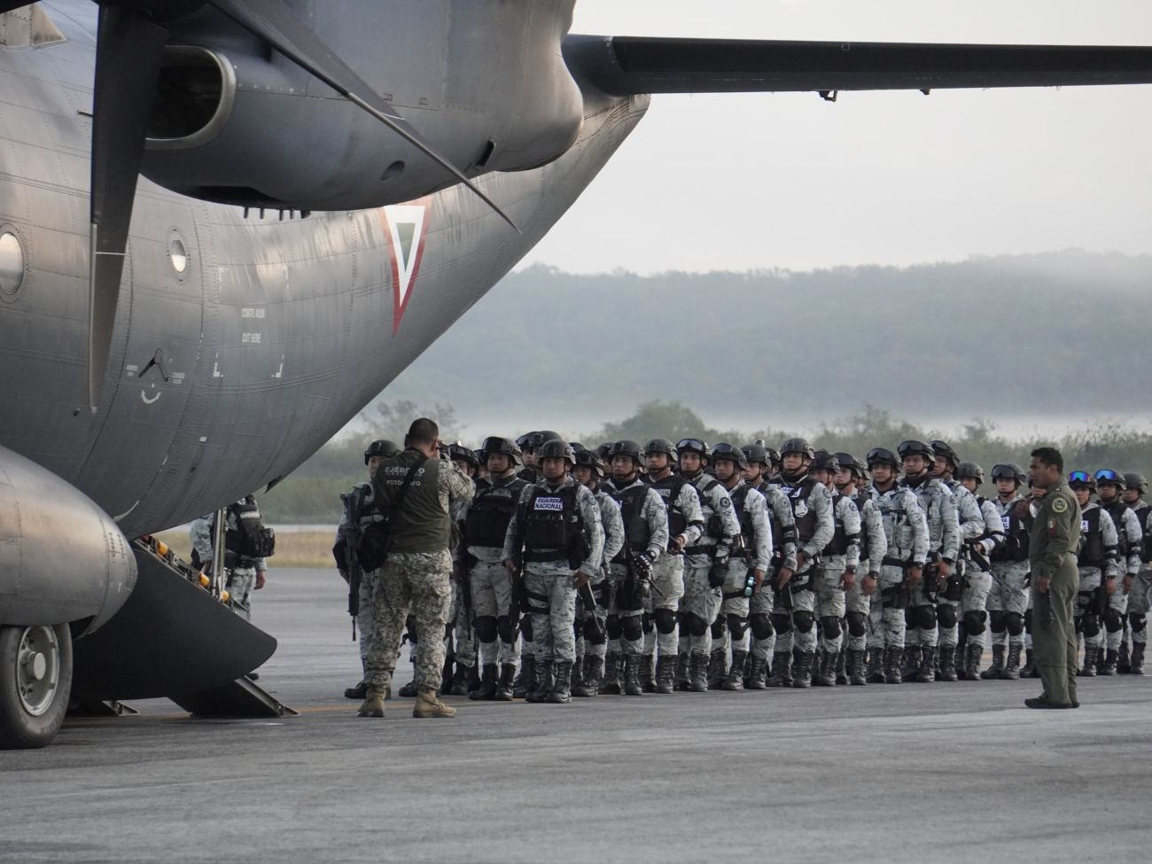
POLYGON ((1028 536, 1031 515, 1017 506, 1028 503, 1020 493, 1026 476, 1020 465, 1001 463, 992 468, 996 498, 992 502, 1000 516, 1005 541, 992 551, 992 589, 988 592, 988 629, 992 631, 992 666, 982 679, 1015 681, 1020 677, 1020 654, 1024 649, 1024 616, 1028 613, 1028 536), (1007 641, 1007 652, 1005 642, 1007 641))

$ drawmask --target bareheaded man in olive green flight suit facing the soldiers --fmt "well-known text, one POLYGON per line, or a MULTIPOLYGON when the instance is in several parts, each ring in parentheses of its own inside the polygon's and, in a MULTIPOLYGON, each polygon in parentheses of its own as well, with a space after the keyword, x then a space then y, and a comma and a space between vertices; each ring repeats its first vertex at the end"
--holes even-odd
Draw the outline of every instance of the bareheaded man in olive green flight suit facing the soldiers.
POLYGON ((1029 560, 1032 568, 1032 646, 1044 682, 1044 694, 1025 699, 1030 708, 1076 708, 1076 630, 1073 601, 1079 590, 1076 548, 1081 540, 1081 508, 1064 483, 1064 460, 1054 447, 1032 450, 1029 467, 1038 486, 1048 492, 1040 500, 1029 560))

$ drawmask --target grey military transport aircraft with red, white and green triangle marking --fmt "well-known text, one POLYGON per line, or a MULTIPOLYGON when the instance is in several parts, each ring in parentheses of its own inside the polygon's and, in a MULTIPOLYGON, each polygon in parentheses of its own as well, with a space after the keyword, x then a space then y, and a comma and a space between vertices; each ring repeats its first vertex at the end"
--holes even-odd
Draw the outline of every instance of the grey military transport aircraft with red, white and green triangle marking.
POLYGON ((300 465, 649 94, 1152 82, 1146 47, 576 36, 574 2, 0 0, 0 746, 272 653, 138 538, 300 465))

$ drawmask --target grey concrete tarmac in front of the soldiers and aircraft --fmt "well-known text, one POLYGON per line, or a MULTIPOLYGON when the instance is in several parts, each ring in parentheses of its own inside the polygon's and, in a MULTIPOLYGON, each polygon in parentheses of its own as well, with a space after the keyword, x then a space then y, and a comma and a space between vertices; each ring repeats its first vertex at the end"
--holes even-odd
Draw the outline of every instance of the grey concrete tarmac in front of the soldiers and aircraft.
MULTIPOLYGON (((273 570, 259 683, 297 718, 191 720, 167 700, 70 720, 0 752, 0 861, 1143 861, 1152 679, 598 697, 449 698, 382 720, 358 677, 343 583, 273 570)), ((407 651, 407 649, 406 649, 407 651)), ((402 654, 397 680, 410 676, 402 654)))

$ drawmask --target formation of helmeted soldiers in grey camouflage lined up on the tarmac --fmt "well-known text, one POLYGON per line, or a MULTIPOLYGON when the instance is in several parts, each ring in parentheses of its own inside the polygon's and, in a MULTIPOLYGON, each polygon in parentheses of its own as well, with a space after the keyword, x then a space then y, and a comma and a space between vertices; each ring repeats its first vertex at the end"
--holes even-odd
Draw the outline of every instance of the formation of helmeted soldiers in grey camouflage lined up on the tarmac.
MULTIPOLYGON (((374 442, 370 476, 396 450, 374 442)), ((859 460, 802 438, 779 452, 698 439, 593 450, 540 431, 447 455, 476 479, 453 505, 449 623, 408 632, 446 639, 444 692, 567 703, 1036 676, 1029 533, 1045 490, 1016 464, 992 469, 984 498, 984 470, 945 441, 859 460)), ((1083 509, 1081 675, 1142 675, 1147 483, 1102 469, 1069 485, 1083 509)), ((344 497, 334 550, 361 600, 362 657, 374 573, 359 571, 355 539, 382 518, 371 497, 371 484, 344 497)), ((363 695, 363 682, 346 691, 363 695)))

